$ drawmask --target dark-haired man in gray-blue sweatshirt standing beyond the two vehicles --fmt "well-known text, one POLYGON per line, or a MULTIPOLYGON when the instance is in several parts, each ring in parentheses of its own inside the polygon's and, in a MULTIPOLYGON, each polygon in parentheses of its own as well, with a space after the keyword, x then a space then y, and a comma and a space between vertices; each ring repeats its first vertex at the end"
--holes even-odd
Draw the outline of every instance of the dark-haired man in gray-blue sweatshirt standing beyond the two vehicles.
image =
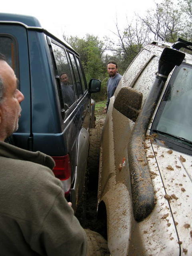
POLYGON ((106 106, 104 107, 104 112, 107 112, 108 106, 109 106, 109 102, 110 102, 110 98, 113 96, 122 76, 118 73, 118 66, 116 64, 116 62, 114 61, 110 61, 107 64, 107 72, 110 76, 110 78, 107 81, 107 102, 106 102, 106 106))

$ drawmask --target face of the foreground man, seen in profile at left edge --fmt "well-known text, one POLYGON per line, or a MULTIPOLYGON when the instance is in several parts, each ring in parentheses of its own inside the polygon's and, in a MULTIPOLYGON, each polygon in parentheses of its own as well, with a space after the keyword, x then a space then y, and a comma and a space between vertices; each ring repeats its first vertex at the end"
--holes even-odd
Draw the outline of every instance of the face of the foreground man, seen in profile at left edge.
POLYGON ((17 78, 12 68, 0 60, 0 76, 4 84, 4 97, 0 103, 0 140, 10 136, 18 129, 23 94, 18 90, 17 78))

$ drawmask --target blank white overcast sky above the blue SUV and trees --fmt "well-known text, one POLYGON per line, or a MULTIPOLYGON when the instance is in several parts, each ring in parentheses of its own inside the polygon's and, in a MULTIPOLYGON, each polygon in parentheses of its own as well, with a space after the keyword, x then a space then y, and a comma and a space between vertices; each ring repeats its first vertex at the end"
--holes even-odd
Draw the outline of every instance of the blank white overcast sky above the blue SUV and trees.
MULTIPOLYGON (((162 0, 156 0, 162 2, 162 0)), ((134 13, 144 14, 154 8, 154 0, 2 0, 0 12, 32 15, 42 27, 61 38, 83 37, 87 33, 113 37, 116 17, 120 28, 126 26, 126 16, 131 20, 134 13)))

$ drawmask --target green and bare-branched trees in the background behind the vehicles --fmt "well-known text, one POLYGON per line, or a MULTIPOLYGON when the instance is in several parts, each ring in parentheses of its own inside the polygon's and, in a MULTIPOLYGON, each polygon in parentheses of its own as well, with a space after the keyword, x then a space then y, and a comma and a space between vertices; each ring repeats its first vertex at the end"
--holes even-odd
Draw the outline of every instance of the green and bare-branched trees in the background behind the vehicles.
POLYGON ((116 20, 117 40, 87 34, 85 38, 64 36, 64 39, 80 54, 86 79, 98 78, 102 81, 101 92, 92 94, 94 100, 106 100, 106 82, 108 73, 106 64, 114 60, 118 64, 118 72, 123 75, 132 60, 143 46, 153 40, 176 42, 178 37, 192 41, 192 0, 178 0, 178 4, 170 0, 156 3, 154 9, 147 10, 144 16, 136 15, 125 28, 120 28, 116 20))

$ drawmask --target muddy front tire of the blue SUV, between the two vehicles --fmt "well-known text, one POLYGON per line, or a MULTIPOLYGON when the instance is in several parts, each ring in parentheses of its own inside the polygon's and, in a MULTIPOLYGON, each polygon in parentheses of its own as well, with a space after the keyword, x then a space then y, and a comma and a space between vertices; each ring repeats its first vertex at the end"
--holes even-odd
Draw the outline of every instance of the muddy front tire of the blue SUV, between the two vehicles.
POLYGON ((87 160, 89 187, 98 180, 101 133, 101 130, 90 129, 90 146, 87 160))

